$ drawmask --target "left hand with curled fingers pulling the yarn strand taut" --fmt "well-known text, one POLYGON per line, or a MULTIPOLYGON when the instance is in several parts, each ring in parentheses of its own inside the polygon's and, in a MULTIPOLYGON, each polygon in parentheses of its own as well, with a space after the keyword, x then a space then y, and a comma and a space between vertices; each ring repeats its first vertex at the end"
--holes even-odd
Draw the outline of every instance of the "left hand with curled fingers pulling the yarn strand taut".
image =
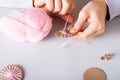
MULTIPOLYGON (((74 9, 74 3, 72 0, 34 0, 34 6, 38 8, 43 8, 45 11, 58 15, 62 19, 66 14, 70 14, 74 9)), ((72 22, 73 17, 70 18, 72 22)))

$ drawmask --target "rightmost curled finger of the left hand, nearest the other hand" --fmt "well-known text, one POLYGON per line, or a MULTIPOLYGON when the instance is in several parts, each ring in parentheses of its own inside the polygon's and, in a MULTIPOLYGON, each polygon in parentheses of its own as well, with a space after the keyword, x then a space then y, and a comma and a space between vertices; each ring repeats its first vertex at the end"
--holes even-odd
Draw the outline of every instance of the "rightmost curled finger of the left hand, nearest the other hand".
POLYGON ((72 7, 71 2, 67 0, 62 0, 62 10, 59 12, 60 15, 69 14, 70 8, 72 7))

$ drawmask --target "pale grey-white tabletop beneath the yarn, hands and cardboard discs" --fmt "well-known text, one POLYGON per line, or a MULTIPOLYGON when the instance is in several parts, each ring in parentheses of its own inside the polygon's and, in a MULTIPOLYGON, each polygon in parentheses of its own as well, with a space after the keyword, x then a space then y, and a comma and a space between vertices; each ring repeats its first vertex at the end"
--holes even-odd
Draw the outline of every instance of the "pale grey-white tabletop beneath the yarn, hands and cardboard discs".
MULTIPOLYGON (((87 1, 76 0, 78 15, 87 1)), ((3 17, 13 8, 0 8, 3 17)), ((90 67, 99 67, 105 71, 108 80, 120 80, 120 17, 106 22, 103 35, 81 45, 81 40, 66 48, 58 48, 66 39, 54 36, 55 31, 62 29, 64 21, 53 18, 50 34, 38 43, 17 42, 5 34, 0 34, 0 69, 8 64, 17 64, 24 69, 24 80, 82 80, 83 73, 90 67), (115 56, 109 61, 101 61, 104 53, 115 56)))

